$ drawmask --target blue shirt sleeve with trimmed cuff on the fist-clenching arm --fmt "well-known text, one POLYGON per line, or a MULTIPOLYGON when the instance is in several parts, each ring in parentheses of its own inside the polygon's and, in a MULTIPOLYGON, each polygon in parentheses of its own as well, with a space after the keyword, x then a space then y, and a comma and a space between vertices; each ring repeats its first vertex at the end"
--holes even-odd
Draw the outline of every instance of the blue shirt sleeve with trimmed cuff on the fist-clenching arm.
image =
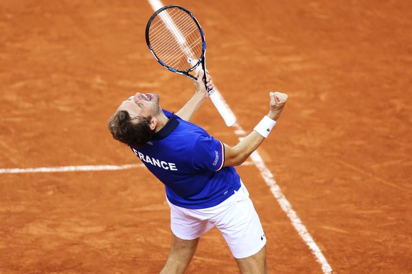
POLYGON ((196 140, 193 153, 195 169, 219 171, 225 163, 225 147, 223 143, 211 136, 201 135, 196 140))

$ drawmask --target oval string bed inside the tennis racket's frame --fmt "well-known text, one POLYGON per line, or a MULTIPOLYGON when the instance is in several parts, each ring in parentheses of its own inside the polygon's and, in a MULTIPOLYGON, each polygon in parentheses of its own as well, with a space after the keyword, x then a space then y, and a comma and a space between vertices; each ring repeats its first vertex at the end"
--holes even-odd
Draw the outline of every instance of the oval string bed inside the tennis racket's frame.
POLYGON ((178 8, 168 10, 160 12, 149 27, 152 50, 172 69, 192 69, 203 51, 198 25, 187 12, 178 8))

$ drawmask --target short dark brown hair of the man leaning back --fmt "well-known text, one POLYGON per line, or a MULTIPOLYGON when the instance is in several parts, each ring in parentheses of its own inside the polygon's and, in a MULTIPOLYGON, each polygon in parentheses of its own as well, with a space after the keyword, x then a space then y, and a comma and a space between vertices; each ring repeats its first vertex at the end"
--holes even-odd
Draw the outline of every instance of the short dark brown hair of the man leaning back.
POLYGON ((141 117, 139 123, 132 123, 126 110, 119 110, 108 121, 108 130, 113 138, 131 147, 143 147, 152 139, 155 130, 150 129, 149 117, 141 117))

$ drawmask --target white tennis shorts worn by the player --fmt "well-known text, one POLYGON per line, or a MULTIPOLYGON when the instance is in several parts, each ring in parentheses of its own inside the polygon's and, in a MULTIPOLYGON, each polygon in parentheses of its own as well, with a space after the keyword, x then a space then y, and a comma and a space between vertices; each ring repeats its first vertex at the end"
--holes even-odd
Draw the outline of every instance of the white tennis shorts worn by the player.
POLYGON ((237 259, 258 253, 266 244, 258 213, 243 183, 235 194, 212 208, 192 210, 168 203, 172 232, 183 240, 199 238, 216 226, 237 259))

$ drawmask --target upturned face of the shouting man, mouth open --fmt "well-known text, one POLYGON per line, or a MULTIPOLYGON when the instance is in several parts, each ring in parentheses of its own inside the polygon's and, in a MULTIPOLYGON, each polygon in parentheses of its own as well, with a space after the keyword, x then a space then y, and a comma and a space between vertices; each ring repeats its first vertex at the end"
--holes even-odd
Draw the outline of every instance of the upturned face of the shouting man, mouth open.
POLYGON ((137 92, 134 96, 130 96, 122 101, 119 108, 117 108, 117 111, 119 110, 126 110, 130 118, 135 123, 139 123, 139 119, 135 119, 135 117, 155 117, 159 115, 159 95, 156 93, 142 94, 137 92))

